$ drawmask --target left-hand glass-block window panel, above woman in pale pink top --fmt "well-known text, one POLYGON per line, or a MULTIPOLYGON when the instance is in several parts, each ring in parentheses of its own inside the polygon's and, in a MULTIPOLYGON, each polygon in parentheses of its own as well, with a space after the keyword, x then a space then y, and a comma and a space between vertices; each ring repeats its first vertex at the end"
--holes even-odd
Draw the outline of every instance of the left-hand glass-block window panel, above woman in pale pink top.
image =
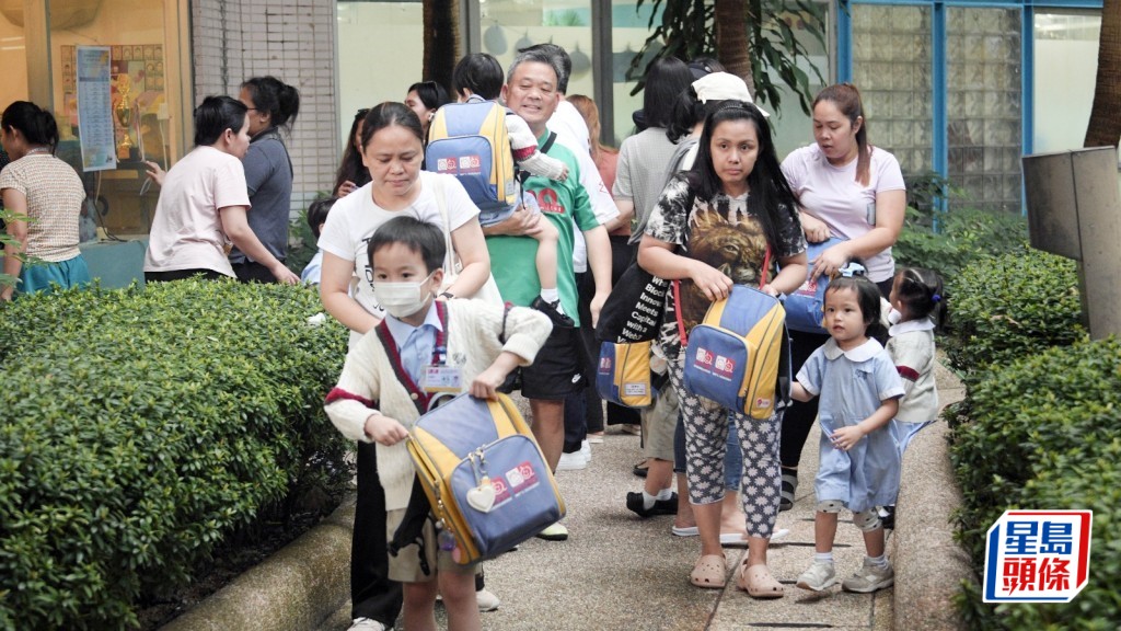
POLYGON ((895 154, 905 174, 930 171, 930 9, 852 4, 851 10, 853 83, 864 102, 869 140, 895 154))

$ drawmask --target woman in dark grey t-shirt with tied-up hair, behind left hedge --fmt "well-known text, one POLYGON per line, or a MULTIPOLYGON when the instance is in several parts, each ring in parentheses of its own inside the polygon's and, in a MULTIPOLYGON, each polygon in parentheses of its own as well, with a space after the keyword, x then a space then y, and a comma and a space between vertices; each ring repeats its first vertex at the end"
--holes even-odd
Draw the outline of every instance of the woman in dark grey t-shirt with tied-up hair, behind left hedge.
MULTIPOLYGON (((245 117, 249 121, 249 150, 241 159, 252 207, 249 227, 269 254, 284 262, 288 255, 294 173, 280 130, 291 134, 291 126, 299 113, 299 91, 275 76, 254 76, 241 84, 238 100, 249 108, 245 117)), ((230 263, 239 280, 275 282, 274 275, 260 260, 245 254, 238 248, 230 253, 230 263)))

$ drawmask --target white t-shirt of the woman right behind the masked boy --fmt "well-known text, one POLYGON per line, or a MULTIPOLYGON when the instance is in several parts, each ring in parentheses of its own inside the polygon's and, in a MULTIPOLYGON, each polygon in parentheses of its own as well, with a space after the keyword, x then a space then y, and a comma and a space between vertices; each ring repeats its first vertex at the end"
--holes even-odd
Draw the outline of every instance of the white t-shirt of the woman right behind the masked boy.
MULTIPOLYGON (((331 208, 327 221, 319 234, 319 249, 331 253, 345 260, 354 262, 354 276, 351 278, 351 296, 362 305, 362 309, 378 318, 385 318, 386 311, 378 304, 373 293, 373 269, 367 255, 367 246, 373 234, 385 222, 395 217, 414 217, 420 221, 441 226, 439 205, 436 203, 436 191, 444 194, 444 208, 447 211, 448 230, 478 219, 479 207, 471 201, 467 191, 454 175, 420 172, 420 194, 416 201, 401 210, 386 210, 373 202, 373 184, 367 184, 351 194, 342 198, 331 208)), ((535 244, 537 241, 534 241, 535 244)), ((447 253, 444 267, 451 269, 452 256, 447 253)), ((502 295, 506 295, 504 293, 502 295)), ((527 303, 528 304, 528 303, 527 303)), ((361 333, 351 331, 350 347, 353 348, 361 333)))

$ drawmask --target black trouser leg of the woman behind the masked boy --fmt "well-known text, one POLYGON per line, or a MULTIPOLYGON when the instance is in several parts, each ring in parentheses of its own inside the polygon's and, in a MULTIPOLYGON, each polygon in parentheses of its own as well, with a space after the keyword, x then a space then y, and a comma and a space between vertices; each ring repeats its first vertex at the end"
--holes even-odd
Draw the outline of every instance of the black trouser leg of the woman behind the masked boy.
POLYGON ((378 477, 378 448, 358 443, 358 504, 351 543, 351 618, 392 627, 401 613, 401 584, 389 579, 386 491, 378 477))

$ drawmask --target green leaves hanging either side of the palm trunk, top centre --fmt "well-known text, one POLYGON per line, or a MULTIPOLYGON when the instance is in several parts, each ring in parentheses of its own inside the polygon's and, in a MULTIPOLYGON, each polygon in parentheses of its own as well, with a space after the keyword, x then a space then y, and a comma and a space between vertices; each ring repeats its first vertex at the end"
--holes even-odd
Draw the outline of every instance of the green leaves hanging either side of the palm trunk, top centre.
MULTIPOLYGON (((651 33, 627 71, 627 79, 639 80, 631 94, 646 84, 643 77, 658 57, 686 62, 701 55, 719 57, 714 26, 717 0, 649 1, 651 33)), ((641 10, 642 2, 638 0, 636 11, 641 10)), ((798 95, 802 110, 810 113, 814 93, 809 75, 802 67, 813 70, 816 84, 824 84, 825 80, 797 35, 805 30, 825 47, 825 4, 812 0, 745 0, 744 4, 756 100, 780 111, 781 82, 798 95)))

